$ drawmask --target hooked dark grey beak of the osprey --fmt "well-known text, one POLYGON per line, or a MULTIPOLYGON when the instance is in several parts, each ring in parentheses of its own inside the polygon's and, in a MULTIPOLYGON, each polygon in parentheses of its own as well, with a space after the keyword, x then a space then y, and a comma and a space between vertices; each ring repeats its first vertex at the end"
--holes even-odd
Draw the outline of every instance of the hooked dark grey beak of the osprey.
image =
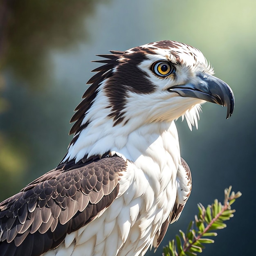
POLYGON ((177 92, 182 97, 203 99, 227 107, 227 119, 231 117, 234 110, 235 97, 229 85, 210 74, 204 74, 199 77, 201 80, 197 84, 175 85, 169 88, 169 91, 177 92))

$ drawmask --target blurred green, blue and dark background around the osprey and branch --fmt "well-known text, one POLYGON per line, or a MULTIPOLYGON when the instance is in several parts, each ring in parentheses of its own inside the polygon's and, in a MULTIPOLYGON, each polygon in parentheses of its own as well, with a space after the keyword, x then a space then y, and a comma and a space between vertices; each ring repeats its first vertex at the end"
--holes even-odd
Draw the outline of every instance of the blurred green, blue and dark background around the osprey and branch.
MULTIPOLYGON (((95 68, 94 54, 157 40, 199 48, 236 97, 232 117, 203 106, 199 128, 177 121, 193 190, 162 245, 229 185, 243 195, 202 255, 254 255, 256 158, 255 0, 0 1, 0 200, 54 168, 69 120, 95 68)), ((162 254, 162 246, 155 255, 162 254)), ((148 252, 147 256, 153 255, 148 252)))

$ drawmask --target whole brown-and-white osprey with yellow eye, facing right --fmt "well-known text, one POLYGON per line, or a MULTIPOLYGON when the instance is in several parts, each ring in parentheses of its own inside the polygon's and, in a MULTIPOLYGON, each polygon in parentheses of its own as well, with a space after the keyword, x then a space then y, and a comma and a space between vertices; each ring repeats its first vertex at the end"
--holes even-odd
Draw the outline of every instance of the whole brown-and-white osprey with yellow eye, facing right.
POLYGON ((204 55, 175 41, 99 55, 61 163, 0 204, 0 256, 144 255, 191 192, 179 117, 205 101, 234 109, 204 55))

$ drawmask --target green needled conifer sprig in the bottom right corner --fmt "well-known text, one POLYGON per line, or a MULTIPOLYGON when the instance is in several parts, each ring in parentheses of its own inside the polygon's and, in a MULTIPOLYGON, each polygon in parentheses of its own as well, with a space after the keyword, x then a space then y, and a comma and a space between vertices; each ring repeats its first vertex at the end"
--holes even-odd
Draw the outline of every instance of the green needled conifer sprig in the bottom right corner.
POLYGON ((234 209, 231 209, 231 204, 242 195, 240 192, 231 193, 231 188, 229 186, 229 189, 224 191, 223 205, 217 199, 206 209, 202 204, 198 204, 199 212, 195 216, 195 221, 189 223, 186 234, 180 230, 180 236, 176 235, 175 239, 164 247, 163 256, 196 256, 205 248, 203 243, 214 243, 214 240, 203 237, 217 236, 216 232, 212 232, 213 230, 227 227, 224 221, 232 218, 235 212, 234 209))

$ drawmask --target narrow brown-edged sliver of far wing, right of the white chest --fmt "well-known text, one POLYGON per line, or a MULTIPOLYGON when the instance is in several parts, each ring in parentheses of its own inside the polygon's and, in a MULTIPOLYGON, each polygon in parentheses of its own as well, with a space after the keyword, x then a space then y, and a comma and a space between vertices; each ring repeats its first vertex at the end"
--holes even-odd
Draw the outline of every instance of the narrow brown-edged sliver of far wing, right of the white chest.
POLYGON ((176 202, 174 204, 173 211, 171 212, 170 216, 166 219, 166 221, 162 224, 161 229, 159 229, 159 231, 155 235, 156 242, 154 241, 154 247, 156 249, 157 249, 157 247, 159 247, 160 243, 164 239, 164 236, 166 234, 166 231, 167 231, 169 225, 171 223, 175 222, 176 220, 178 220, 178 218, 180 217, 180 214, 181 214, 181 212, 182 212, 182 210, 183 210, 183 208, 184 208, 184 206, 186 204, 186 201, 188 200, 189 195, 191 193, 192 177, 191 177, 190 168, 189 168, 188 164, 185 162, 185 160, 182 157, 181 157, 181 164, 182 164, 182 167, 184 168, 184 170, 186 172, 186 177, 188 179, 187 186, 190 186, 190 191, 187 194, 187 198, 184 201, 184 204, 178 204, 177 203, 177 198, 176 198, 176 202))

